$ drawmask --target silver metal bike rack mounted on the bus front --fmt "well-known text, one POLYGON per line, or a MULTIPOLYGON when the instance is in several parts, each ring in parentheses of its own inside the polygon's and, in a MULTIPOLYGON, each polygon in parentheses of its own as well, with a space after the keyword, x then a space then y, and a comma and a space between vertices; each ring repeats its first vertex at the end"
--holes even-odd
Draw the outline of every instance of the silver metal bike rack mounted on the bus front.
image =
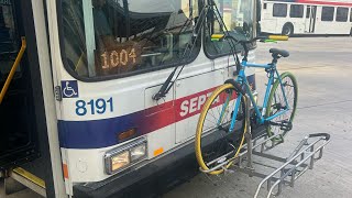
POLYGON ((252 139, 251 130, 248 128, 245 140, 246 144, 242 146, 240 154, 235 158, 223 161, 223 158, 230 155, 230 152, 207 164, 211 165, 213 163, 221 162, 217 166, 207 170, 200 168, 200 172, 208 174, 216 169, 222 168, 224 172, 231 173, 239 170, 248 174, 251 177, 261 177, 263 180, 258 184, 254 194, 254 198, 257 198, 262 189, 265 189, 263 188, 265 184, 267 189, 265 197, 270 198, 271 196, 280 195, 285 185, 294 187, 296 179, 306 173, 306 170, 314 168, 315 163, 322 157, 324 146, 330 142, 330 134, 308 134, 287 157, 280 157, 266 153, 284 143, 283 141, 277 141, 284 140, 282 134, 276 134, 273 136, 262 134, 255 139, 252 139), (258 158, 262 158, 262 161, 257 162, 258 158), (228 169, 226 168, 226 165, 230 161, 233 161, 234 165, 228 169), (261 172, 261 167, 262 169, 272 168, 273 170, 271 173, 263 173, 261 172))

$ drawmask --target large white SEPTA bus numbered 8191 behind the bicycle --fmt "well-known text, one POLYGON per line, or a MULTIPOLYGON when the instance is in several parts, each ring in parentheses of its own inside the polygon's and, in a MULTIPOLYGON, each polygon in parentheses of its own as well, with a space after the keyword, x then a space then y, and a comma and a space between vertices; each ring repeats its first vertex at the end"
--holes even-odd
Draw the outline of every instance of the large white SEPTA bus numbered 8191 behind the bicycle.
MULTIPOLYGON (((210 40, 222 30, 212 14, 194 50, 186 48, 204 3, 0 0, 1 87, 20 36, 28 42, 0 105, 1 177, 31 175, 29 187, 47 197, 109 197, 142 195, 129 187, 185 164, 186 156, 196 165, 200 109, 235 72, 229 44, 210 40), (170 91, 154 100, 185 64, 170 91)), ((254 0, 216 3, 231 34, 256 35, 254 0)), ((254 62, 255 43, 251 47, 254 62)), ((254 70, 248 74, 254 91, 254 70)))

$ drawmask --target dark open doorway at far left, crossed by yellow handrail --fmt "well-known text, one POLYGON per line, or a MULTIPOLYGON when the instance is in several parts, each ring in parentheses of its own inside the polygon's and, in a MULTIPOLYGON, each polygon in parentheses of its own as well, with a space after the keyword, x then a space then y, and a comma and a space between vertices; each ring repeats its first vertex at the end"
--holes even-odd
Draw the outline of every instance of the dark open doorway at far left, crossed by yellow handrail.
MULTIPOLYGON (((25 35, 21 4, 0 0, 0 89, 20 52, 21 36, 25 35)), ((0 103, 0 170, 37 156, 32 96, 25 52, 0 103)))

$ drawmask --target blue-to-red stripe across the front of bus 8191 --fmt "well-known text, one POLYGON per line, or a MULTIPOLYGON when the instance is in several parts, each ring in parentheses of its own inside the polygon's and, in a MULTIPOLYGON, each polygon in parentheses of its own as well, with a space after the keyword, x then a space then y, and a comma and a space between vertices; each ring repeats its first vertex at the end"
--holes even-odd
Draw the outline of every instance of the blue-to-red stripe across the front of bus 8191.
MULTIPOLYGON (((252 89, 255 89, 255 77, 251 75, 248 77, 252 89)), ((209 90, 212 90, 211 88, 209 90)), ((177 121, 187 119, 186 117, 176 117, 180 111, 180 103, 184 100, 189 100, 198 95, 202 95, 209 90, 204 90, 194 95, 178 98, 169 101, 172 106, 163 105, 162 111, 160 106, 155 106, 145 110, 133 112, 121 117, 103 119, 103 120, 88 120, 88 121, 58 121, 58 136, 61 147, 65 148, 100 148, 117 145, 119 142, 119 134, 124 131, 135 129, 136 135, 143 135, 155 130, 162 129, 166 125, 177 121), (175 103, 178 103, 175 107, 175 103), (168 108, 166 108, 168 107, 168 108), (156 113, 157 112, 157 113, 156 113)), ((199 113, 199 112, 197 112, 199 113)))

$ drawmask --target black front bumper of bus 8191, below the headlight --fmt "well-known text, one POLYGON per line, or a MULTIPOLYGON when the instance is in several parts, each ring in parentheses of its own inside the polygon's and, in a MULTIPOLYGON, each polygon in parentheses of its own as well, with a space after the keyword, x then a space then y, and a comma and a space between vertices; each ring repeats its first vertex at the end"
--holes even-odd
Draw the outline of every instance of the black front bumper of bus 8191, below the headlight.
MULTIPOLYGON (((253 136, 263 132, 265 132, 263 128, 256 129, 253 136)), ((235 136, 235 139, 238 138, 235 136)), ((210 134, 206 136, 204 143, 210 145, 213 141, 215 139, 210 134)), ((128 170, 123 175, 116 175, 98 183, 75 185, 74 197, 161 197, 198 173, 200 172, 195 156, 195 145, 194 142, 190 142, 139 169, 128 170)))

